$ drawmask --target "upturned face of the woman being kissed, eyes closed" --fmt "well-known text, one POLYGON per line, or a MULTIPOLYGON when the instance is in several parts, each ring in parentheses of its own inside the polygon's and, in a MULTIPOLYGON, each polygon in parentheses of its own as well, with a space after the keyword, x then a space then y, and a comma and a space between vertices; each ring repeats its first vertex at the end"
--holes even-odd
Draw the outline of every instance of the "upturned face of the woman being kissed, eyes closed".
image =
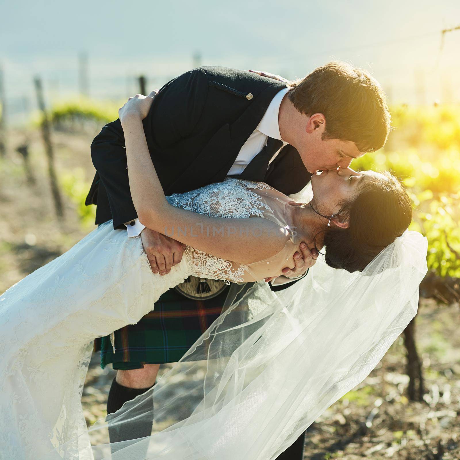
POLYGON ((311 188, 316 208, 324 215, 332 215, 339 211, 341 203, 353 199, 359 187, 371 177, 388 180, 383 174, 375 171, 357 173, 351 168, 337 168, 323 171, 311 177, 311 188))

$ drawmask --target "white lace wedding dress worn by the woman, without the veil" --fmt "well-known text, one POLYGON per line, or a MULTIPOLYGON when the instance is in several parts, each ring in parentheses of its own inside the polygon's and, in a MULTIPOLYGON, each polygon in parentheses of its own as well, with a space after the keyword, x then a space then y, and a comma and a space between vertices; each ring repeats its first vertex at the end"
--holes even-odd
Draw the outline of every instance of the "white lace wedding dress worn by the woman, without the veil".
MULTIPOLYGON (((209 216, 288 225, 288 197, 263 183, 228 178, 167 199, 209 216)), ((137 323, 189 275, 261 280, 286 266, 296 249, 291 236, 276 256, 248 266, 187 247, 160 276, 151 272, 141 239, 128 239, 110 221, 12 286, 0 296, 0 458, 40 458, 71 440, 75 452, 68 449, 65 458, 80 458, 78 446, 88 444, 81 393, 93 339, 137 323)))

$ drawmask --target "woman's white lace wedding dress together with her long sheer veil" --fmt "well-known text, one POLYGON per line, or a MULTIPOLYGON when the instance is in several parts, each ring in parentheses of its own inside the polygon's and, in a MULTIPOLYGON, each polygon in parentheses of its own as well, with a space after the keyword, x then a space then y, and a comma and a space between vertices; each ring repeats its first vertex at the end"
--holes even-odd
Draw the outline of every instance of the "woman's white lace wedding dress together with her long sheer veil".
MULTIPOLYGON (((290 226, 289 198, 263 183, 229 178, 168 201, 290 226)), ((427 271, 420 233, 405 231, 362 272, 334 270, 321 256, 279 293, 255 283, 153 388, 108 417, 129 441, 91 446, 80 400, 95 337, 138 322, 190 274, 237 283, 278 274, 297 250, 300 236, 290 233, 276 256, 251 265, 187 247, 159 276, 140 238, 106 223, 8 289, 0 296, 0 459, 276 459, 371 372, 416 314, 427 271), (138 438, 145 422, 153 433, 138 438)), ((107 424, 89 431, 99 430, 106 436, 107 424)))

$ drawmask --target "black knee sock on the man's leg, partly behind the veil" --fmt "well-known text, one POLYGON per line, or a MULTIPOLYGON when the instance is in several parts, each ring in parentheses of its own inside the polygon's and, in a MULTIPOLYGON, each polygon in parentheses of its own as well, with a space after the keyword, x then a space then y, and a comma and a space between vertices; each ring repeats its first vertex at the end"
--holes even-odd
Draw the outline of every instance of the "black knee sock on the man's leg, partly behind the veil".
MULTIPOLYGON (((147 390, 149 390, 149 388, 128 388, 127 386, 120 385, 114 379, 110 387, 109 397, 107 398, 107 414, 113 414, 120 409, 124 403, 131 401, 138 395, 142 395, 142 393, 145 393, 147 390)), ((144 401, 143 410, 153 410, 153 400, 151 398, 149 398, 148 401, 144 401)), ((129 423, 110 426, 110 417, 107 417, 107 421, 109 423, 109 437, 111 443, 150 436, 152 432, 152 419, 136 422, 136 426, 132 426, 132 424, 129 423)), ((114 451, 118 449, 114 446, 114 451)))

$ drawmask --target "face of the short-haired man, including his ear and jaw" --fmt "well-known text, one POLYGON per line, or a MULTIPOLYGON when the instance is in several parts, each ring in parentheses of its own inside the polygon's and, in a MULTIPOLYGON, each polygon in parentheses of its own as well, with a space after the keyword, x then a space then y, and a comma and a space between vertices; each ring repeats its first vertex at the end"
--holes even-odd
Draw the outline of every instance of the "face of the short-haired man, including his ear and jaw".
POLYGON ((332 171, 338 167, 347 168, 353 158, 364 153, 357 149, 354 142, 324 137, 326 121, 322 114, 308 117, 307 125, 294 147, 309 173, 332 171))

